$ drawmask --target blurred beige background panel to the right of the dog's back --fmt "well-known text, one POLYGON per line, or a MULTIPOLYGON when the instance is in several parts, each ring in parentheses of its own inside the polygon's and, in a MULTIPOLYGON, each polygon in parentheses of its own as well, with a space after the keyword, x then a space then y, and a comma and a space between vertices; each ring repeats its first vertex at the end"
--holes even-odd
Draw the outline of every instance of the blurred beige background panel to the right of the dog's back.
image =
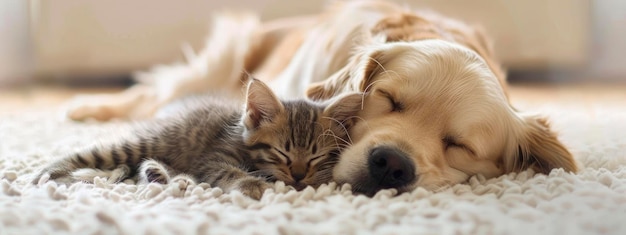
POLYGON ((588 0, 414 0, 466 22, 483 25, 509 67, 581 66, 589 45, 588 0))

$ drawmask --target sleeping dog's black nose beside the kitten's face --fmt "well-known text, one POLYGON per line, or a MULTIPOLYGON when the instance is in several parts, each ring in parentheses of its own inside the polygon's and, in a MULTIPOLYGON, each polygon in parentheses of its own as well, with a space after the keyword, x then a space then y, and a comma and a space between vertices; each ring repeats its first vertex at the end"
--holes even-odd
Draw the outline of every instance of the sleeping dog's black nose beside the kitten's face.
POLYGON ((372 149, 368 159, 369 174, 380 188, 405 186, 415 179, 415 165, 404 152, 392 147, 372 149))

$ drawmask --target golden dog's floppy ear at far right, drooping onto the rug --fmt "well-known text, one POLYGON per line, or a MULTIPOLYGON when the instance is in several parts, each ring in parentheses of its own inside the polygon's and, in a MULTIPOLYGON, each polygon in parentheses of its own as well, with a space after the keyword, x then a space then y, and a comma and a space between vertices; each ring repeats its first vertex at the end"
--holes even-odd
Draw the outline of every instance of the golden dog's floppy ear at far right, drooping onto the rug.
POLYGON ((505 158, 506 172, 532 168, 535 172, 548 174, 552 169, 563 168, 577 172, 576 162, 569 151, 550 131, 544 118, 525 116, 517 146, 511 149, 511 159, 505 158))

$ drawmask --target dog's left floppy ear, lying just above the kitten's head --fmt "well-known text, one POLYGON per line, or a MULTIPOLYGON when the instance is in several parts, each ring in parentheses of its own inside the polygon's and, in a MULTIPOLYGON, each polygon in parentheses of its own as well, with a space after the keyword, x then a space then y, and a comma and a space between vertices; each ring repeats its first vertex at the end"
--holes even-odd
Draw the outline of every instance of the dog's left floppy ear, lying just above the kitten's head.
POLYGON ((367 92, 374 76, 383 70, 384 50, 363 50, 352 61, 325 81, 314 83, 306 91, 309 99, 328 100, 343 92, 367 92))

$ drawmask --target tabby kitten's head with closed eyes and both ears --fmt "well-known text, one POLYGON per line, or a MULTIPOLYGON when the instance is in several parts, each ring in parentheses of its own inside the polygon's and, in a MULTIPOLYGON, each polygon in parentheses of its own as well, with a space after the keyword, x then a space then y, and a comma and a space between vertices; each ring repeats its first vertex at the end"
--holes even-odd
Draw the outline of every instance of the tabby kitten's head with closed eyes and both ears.
POLYGON ((244 141, 259 175, 296 189, 332 180, 340 150, 351 144, 348 128, 361 109, 362 94, 350 93, 326 103, 280 101, 261 81, 248 85, 244 141))

